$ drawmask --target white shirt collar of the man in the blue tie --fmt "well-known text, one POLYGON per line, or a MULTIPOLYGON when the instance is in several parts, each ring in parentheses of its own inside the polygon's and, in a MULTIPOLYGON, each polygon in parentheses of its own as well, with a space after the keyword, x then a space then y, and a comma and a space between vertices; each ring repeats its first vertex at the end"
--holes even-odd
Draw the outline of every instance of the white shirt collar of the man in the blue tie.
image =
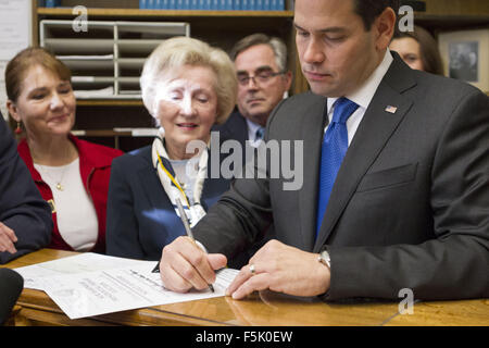
MULTIPOLYGON (((348 99, 350 99, 351 101, 355 102, 358 105, 366 110, 372 99, 374 98, 374 95, 377 91, 380 82, 383 80, 392 62, 393 62, 392 54, 390 53, 390 50, 387 49, 386 53, 384 54, 381 63, 365 80, 362 87, 356 89, 356 91, 354 91, 353 94, 344 97, 347 97, 348 99)), ((335 101, 338 98, 328 98, 328 110, 331 110, 331 107, 335 104, 335 101)))

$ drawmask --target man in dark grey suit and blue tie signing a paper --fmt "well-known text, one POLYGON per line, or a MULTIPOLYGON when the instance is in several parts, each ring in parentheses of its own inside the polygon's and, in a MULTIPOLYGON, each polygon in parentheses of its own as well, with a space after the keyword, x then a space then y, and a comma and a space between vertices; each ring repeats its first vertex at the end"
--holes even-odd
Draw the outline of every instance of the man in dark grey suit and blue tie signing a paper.
POLYGON ((186 238, 163 250, 167 287, 205 288, 235 245, 273 222, 277 240, 241 269, 233 298, 489 296, 489 98, 390 52, 397 9, 394 0, 296 1, 312 92, 275 109, 265 140, 303 140, 303 186, 237 179, 195 228, 211 253, 186 238))

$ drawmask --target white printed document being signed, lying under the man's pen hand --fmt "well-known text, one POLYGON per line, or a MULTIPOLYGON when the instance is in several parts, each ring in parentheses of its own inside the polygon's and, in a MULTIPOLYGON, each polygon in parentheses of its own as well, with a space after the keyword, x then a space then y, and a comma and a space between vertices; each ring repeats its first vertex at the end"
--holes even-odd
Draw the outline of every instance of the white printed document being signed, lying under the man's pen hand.
POLYGON ((177 294, 164 288, 160 274, 152 273, 156 262, 106 271, 49 276, 43 289, 70 319, 192 301, 225 295, 238 270, 217 272, 215 291, 210 289, 177 294))

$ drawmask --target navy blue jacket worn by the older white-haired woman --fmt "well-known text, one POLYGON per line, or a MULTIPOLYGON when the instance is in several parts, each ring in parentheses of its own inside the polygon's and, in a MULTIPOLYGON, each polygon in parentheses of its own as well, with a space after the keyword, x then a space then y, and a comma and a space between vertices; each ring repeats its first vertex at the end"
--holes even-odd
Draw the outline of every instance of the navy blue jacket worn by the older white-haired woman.
MULTIPOLYGON (((212 151, 209 152, 209 169, 212 151)), ((165 167, 170 162, 162 159, 165 167)), ((229 189, 230 179, 204 181, 205 211, 229 189)), ((184 224, 166 195, 151 160, 151 146, 112 162, 106 209, 106 253, 140 260, 160 260, 164 246, 185 235, 184 224)), ((244 261, 242 261, 244 262, 244 261)), ((231 266, 240 266, 230 262, 231 266)))

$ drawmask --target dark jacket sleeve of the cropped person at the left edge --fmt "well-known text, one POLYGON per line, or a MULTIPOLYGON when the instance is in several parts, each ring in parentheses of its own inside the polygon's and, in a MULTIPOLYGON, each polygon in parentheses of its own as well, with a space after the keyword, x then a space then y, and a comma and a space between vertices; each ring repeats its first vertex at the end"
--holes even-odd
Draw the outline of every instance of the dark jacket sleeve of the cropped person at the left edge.
POLYGON ((17 236, 17 252, 0 252, 0 263, 46 247, 51 240, 51 210, 42 199, 0 113, 0 221, 17 236))

